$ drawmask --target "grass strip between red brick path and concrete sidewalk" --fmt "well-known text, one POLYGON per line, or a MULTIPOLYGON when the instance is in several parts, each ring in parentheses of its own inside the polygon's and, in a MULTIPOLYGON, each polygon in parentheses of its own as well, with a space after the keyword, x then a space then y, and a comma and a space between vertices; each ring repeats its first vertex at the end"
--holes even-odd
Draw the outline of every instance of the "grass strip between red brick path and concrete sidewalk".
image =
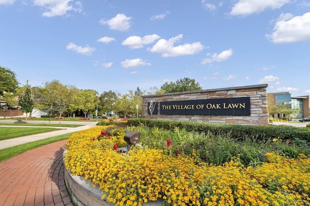
POLYGON ((55 137, 49 137, 46 139, 42 139, 42 140, 37 140, 34 142, 30 142, 30 143, 25 143, 22 145, 17 145, 14 147, 8 147, 8 148, 4 148, 4 149, 0 149, 0 162, 9 159, 11 157, 14 157, 16 155, 19 155, 21 153, 24 153, 28 150, 34 149, 36 147, 41 147, 43 145, 47 145, 53 142, 58 142, 61 140, 65 140, 68 139, 69 136, 71 136, 73 134, 72 133, 67 133, 67 134, 62 134, 59 136, 55 136, 55 137))

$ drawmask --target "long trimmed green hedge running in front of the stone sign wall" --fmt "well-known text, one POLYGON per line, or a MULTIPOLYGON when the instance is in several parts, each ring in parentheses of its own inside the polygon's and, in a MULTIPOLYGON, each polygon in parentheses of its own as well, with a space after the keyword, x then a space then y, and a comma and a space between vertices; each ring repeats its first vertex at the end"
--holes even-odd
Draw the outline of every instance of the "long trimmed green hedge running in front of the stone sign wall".
POLYGON ((239 124, 221 124, 204 123, 164 119, 128 119, 128 126, 144 125, 149 128, 157 127, 165 130, 174 130, 178 127, 192 132, 212 132, 214 134, 227 134, 232 138, 243 141, 248 137, 255 137, 261 140, 280 138, 282 140, 300 139, 310 142, 310 129, 297 128, 285 125, 239 125, 239 124))

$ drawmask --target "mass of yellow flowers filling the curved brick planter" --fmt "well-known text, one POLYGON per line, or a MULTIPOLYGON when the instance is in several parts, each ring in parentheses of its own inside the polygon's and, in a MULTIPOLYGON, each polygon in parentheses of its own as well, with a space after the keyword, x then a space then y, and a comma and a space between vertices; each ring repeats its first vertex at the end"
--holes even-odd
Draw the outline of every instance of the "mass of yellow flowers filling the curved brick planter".
POLYGON ((158 199, 177 206, 310 204, 309 156, 289 159, 267 152, 267 162, 255 167, 245 166, 238 157, 214 165, 201 162, 195 149, 190 156, 171 154, 170 139, 167 149, 137 145, 124 154, 115 148, 122 144, 122 130, 98 126, 75 133, 64 158, 68 171, 97 186, 102 198, 115 205, 158 199))

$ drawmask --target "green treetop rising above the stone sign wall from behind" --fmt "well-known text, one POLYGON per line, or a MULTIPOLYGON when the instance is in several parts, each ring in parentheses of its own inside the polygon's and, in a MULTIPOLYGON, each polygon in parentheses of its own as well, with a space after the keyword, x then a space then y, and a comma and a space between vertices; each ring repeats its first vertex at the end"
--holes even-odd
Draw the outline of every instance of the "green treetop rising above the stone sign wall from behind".
POLYGON ((165 93, 202 90, 202 87, 198 82, 196 83, 195 79, 188 77, 178 79, 176 82, 166 82, 160 88, 165 90, 165 93))

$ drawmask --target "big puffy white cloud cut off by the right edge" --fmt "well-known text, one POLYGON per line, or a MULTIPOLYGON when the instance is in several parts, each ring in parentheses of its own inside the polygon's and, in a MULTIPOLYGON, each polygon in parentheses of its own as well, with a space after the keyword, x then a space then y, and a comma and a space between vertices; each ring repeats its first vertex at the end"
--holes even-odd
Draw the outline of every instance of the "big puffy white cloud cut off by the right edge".
POLYGON ((281 14, 271 34, 266 37, 273 43, 310 41, 310 12, 301 16, 281 14))

